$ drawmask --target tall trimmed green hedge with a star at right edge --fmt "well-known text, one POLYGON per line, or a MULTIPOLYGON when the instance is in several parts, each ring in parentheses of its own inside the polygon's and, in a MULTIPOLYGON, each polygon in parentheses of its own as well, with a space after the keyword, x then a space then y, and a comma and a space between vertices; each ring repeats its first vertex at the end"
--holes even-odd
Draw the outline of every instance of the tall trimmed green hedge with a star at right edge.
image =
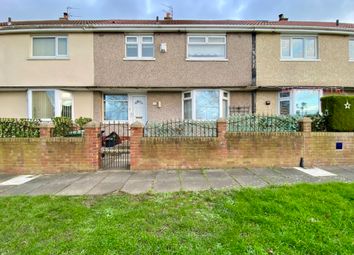
POLYGON ((354 131, 354 96, 325 96, 321 98, 322 112, 327 115, 328 131, 354 131), (350 104, 350 109, 345 104, 350 104))

